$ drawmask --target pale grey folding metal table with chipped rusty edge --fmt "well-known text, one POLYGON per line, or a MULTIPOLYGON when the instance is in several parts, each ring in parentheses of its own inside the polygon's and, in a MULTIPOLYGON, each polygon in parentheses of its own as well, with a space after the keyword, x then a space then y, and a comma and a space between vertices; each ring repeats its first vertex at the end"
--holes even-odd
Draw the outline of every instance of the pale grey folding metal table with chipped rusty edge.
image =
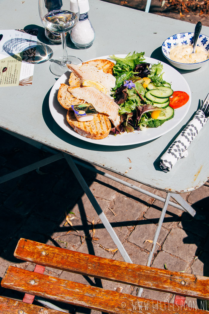
MULTIPOLYGON (((194 24, 191 23, 118 6, 101 0, 89 0, 89 4, 89 17, 96 32, 96 39, 93 45, 87 50, 78 50, 68 41, 69 55, 75 55, 82 61, 105 55, 144 51, 145 56, 166 62, 161 54, 161 44, 163 41, 173 34, 194 31, 194 24)), ((38 4, 36 1, 19 1, 18 3, 14 3, 12 0, 3 1, 1 3, 1 12, 1 25, 3 25, 4 29, 38 27, 38 40, 43 41, 41 35, 43 35, 44 30, 39 19, 38 4), (8 7, 10 8, 9 12, 13 17, 12 19, 8 19, 8 7)), ((209 27, 203 26, 201 32, 209 35, 209 27)), ((52 45, 50 48, 53 51, 53 59, 60 57, 61 46, 52 45)), ((130 187, 149 194, 164 203, 147 262, 147 265, 150 265, 154 246, 168 204, 188 211, 192 216, 195 216, 194 209, 184 201, 180 193, 192 191, 208 180, 208 123, 206 123, 200 135, 190 145, 188 149, 189 156, 187 158, 179 160, 172 171, 168 173, 161 171, 159 168, 159 157, 162 152, 172 142, 180 129, 189 121, 198 107, 199 100, 203 100, 209 91, 207 69, 200 68, 191 72, 179 70, 190 86, 192 98, 187 115, 174 129, 146 143, 123 147, 108 147, 77 139, 66 133, 54 121, 49 110, 49 94, 57 77, 50 72, 49 66, 50 61, 35 65, 32 86, 0 88, 0 127, 6 132, 10 132, 14 136, 22 138, 36 147, 49 149, 53 154, 46 160, 2 177, 0 182, 36 169, 41 165, 65 158, 76 174, 81 186, 117 245, 124 260, 129 263, 132 263, 130 257, 123 248, 96 199, 93 197, 71 156, 149 187, 167 192, 166 199, 164 199, 130 185, 130 187), (129 160, 131 160, 131 167, 129 160), (174 198, 177 204, 171 202, 170 197, 174 198)), ((85 166, 94 170, 91 165, 85 166)), ((117 179, 101 171, 100 173, 128 185, 122 179, 117 179)))

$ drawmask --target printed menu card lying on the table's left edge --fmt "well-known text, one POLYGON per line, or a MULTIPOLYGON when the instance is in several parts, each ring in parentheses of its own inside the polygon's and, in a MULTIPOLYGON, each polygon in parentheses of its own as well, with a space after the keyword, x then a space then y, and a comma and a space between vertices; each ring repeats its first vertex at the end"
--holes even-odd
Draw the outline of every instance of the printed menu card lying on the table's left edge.
POLYGON ((0 30, 0 87, 31 85, 38 30, 0 30))

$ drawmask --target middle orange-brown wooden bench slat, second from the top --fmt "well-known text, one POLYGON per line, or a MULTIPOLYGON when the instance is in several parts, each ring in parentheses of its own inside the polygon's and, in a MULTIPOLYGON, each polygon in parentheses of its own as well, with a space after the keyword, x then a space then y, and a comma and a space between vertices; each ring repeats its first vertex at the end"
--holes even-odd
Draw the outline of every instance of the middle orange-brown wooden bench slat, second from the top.
MULTIPOLYGON (((137 296, 123 294, 117 291, 105 290, 90 285, 75 283, 72 281, 41 275, 21 268, 9 266, 3 279, 2 286, 32 295, 57 300, 76 306, 84 306, 90 309, 104 311, 112 314, 162 314, 160 302, 139 298, 137 296), (142 309, 139 309, 139 305, 142 309), (147 309, 145 309, 145 306, 147 309), (134 309, 133 306, 136 306, 134 309)), ((170 311, 177 313, 179 306, 163 302, 163 313, 170 311)), ((181 312, 187 312, 184 307, 181 312)), ((191 310, 191 314, 208 314, 207 311, 191 310)))

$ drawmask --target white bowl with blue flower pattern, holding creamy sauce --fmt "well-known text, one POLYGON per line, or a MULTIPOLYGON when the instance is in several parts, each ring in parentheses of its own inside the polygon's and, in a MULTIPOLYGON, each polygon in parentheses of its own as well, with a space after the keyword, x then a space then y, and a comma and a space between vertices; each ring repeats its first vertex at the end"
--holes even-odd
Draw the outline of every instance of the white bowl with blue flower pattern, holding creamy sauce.
POLYGON ((209 37, 203 34, 199 35, 196 46, 201 46, 207 53, 208 58, 205 61, 198 63, 180 63, 175 62, 170 59, 170 50, 173 49, 176 45, 193 45, 194 42, 194 33, 180 33, 172 35, 167 38, 162 44, 162 53, 164 57, 172 64, 174 67, 183 69, 183 70, 194 70, 201 68, 209 60, 209 37))

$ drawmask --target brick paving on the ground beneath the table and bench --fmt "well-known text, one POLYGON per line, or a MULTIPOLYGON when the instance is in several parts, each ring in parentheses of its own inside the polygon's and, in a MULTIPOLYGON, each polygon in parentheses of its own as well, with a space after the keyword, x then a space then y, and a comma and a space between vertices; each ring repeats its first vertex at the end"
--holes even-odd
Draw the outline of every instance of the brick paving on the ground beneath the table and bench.
MULTIPOLYGON (((50 153, 36 149, 3 131, 0 131, 0 143, 0 176, 50 156, 50 153)), ((81 166, 79 169, 133 263, 145 265, 151 246, 147 240, 153 240, 163 204, 81 166)), ((125 180, 165 197, 165 192, 125 180)), ((32 263, 13 257, 20 237, 123 260, 120 253, 115 251, 115 244, 65 160, 56 161, 1 184, 0 196, 0 277, 8 265, 34 269, 32 263), (77 231, 66 222, 65 213, 70 216, 77 231), (95 241, 89 240, 93 219, 94 237, 97 238, 95 241)), ((168 206, 151 266, 208 276, 208 182, 195 191, 185 193, 183 197, 198 213, 204 214, 206 219, 193 219, 189 214, 168 206)), ((52 268, 46 268, 45 273, 110 290, 117 289, 122 293, 136 294, 136 288, 128 285, 86 278, 52 268)), ((0 288, 0 295, 22 299, 22 294, 3 288, 0 288)), ((171 294, 146 289, 142 296, 159 301, 173 300, 171 294)), ((95 312, 58 302, 54 304, 72 314, 95 312)))

